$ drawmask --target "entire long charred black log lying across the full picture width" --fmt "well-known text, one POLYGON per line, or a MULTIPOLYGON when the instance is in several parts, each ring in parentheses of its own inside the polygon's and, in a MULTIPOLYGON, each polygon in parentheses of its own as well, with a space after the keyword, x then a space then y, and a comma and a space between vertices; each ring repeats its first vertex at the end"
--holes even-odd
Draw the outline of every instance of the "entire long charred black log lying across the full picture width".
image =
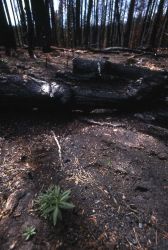
POLYGON ((167 76, 144 77, 128 84, 71 85, 19 75, 0 76, 0 107, 4 109, 139 110, 158 105, 165 97, 167 76))

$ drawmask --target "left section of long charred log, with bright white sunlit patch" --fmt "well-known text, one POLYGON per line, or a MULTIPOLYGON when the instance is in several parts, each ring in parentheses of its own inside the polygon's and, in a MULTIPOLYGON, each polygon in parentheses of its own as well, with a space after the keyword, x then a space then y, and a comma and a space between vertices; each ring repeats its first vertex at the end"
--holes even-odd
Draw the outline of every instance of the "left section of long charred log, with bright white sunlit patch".
POLYGON ((59 109, 69 106, 71 89, 30 76, 0 76, 0 108, 9 110, 59 109))

